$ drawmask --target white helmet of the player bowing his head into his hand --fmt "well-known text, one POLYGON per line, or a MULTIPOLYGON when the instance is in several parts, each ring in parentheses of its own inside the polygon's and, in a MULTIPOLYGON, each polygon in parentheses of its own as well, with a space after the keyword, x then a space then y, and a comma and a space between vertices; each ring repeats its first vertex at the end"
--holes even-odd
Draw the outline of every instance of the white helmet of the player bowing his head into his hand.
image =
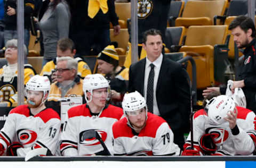
POLYGON ((219 125, 226 122, 224 117, 226 117, 227 113, 230 111, 235 111, 236 105, 233 98, 226 95, 220 95, 207 101, 205 110, 208 114, 210 123, 219 125))

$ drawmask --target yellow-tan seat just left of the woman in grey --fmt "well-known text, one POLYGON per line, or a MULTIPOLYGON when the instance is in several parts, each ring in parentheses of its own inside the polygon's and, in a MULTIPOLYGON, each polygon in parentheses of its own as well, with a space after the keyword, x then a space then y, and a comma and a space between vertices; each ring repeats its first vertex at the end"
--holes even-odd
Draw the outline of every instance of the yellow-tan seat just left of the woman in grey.
MULTIPOLYGON (((37 30, 37 35, 39 36, 40 31, 37 30)), ((28 57, 29 56, 40 56, 40 44, 39 41, 38 43, 35 43, 36 41, 36 36, 31 35, 31 31, 30 31, 30 40, 29 40, 29 45, 28 45, 28 57)))

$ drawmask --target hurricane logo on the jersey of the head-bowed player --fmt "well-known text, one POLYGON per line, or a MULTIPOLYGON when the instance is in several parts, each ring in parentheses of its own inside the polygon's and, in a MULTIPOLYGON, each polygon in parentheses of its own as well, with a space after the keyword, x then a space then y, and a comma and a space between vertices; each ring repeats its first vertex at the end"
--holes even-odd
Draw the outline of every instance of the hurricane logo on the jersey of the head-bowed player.
MULTIPOLYGON (((211 133, 211 135, 213 136, 214 142, 215 144, 220 144, 221 143, 221 139, 223 136, 223 128, 217 128, 217 127, 212 127, 212 128, 207 128, 205 130, 205 133, 211 133)), ((224 137, 223 137, 223 142, 225 140, 228 139, 228 131, 224 131, 224 137)))

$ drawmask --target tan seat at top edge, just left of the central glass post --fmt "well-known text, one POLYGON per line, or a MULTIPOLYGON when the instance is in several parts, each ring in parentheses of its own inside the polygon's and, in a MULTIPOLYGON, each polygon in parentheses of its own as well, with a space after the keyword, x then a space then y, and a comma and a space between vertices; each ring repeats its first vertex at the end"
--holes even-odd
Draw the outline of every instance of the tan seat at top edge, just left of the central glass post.
MULTIPOLYGON (((127 28, 127 19, 131 18, 131 3, 115 3, 116 14, 119 17, 118 23, 121 28, 127 28)), ((112 24, 110 28, 113 28, 112 24)))

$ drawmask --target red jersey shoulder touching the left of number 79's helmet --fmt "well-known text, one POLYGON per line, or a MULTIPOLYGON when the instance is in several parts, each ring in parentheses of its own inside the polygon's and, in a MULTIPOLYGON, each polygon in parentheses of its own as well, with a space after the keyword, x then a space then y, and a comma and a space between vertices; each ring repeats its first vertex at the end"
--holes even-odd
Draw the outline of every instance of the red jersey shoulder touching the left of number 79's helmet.
POLYGON ((108 107, 102 111, 100 117, 110 117, 119 120, 123 114, 122 108, 109 104, 108 107))

